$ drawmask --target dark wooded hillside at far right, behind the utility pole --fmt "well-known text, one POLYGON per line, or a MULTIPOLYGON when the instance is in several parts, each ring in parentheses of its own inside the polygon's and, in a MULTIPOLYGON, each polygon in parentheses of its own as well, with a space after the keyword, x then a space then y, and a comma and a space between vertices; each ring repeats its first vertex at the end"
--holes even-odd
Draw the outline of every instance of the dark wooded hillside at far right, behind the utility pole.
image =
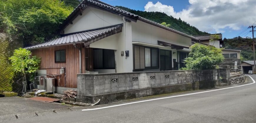
POLYGON ((223 39, 225 49, 242 50, 241 60, 253 60, 252 39, 235 37, 232 39, 223 39))

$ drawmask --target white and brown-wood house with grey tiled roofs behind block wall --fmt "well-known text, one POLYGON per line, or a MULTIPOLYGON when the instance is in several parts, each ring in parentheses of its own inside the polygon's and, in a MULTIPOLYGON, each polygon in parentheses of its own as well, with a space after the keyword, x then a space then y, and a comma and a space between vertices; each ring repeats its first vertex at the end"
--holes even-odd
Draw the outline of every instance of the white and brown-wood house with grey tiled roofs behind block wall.
POLYGON ((26 47, 41 58, 37 74, 56 78, 58 93, 77 88, 81 73, 178 70, 200 40, 98 0, 82 1, 60 28, 62 37, 26 47))

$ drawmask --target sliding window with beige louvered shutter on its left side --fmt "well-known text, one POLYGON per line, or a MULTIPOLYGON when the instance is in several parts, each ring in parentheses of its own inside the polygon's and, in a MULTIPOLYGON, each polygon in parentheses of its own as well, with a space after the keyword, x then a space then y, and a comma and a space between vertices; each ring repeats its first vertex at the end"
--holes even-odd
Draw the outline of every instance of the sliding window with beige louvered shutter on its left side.
POLYGON ((134 69, 159 68, 159 49, 134 45, 134 69))

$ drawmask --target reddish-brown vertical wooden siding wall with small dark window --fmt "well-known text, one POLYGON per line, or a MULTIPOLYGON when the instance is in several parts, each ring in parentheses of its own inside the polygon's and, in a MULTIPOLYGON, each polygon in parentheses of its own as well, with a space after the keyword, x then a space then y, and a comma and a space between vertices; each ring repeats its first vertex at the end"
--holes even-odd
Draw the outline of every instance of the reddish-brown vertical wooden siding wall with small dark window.
MULTIPOLYGON (((82 45, 77 45, 82 47, 82 45)), ((82 53, 82 73, 85 73, 85 49, 81 50, 82 53)), ((74 48, 73 45, 53 46, 39 49, 31 49, 32 55, 41 58, 41 68, 46 69, 46 74, 57 75, 61 67, 66 68, 66 86, 68 88, 77 88, 77 74, 79 74, 79 50, 74 48), (66 62, 55 63, 55 51, 66 50, 66 62)), ((52 78, 51 76, 47 76, 52 78)), ((56 84, 61 77, 60 86, 64 86, 64 74, 56 76, 56 84)))

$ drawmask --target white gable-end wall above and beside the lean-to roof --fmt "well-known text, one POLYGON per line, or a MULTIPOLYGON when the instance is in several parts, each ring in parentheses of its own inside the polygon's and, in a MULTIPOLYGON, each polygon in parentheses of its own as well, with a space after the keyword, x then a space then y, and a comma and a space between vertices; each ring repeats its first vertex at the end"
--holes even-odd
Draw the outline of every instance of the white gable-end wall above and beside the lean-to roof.
MULTIPOLYGON (((122 32, 118 34, 105 37, 97 42, 90 44, 92 48, 102 49, 114 49, 117 73, 132 72, 133 70, 133 54, 132 54, 132 27, 131 23, 122 20, 121 16, 118 16, 107 11, 102 11, 97 8, 87 7, 82 16, 78 16, 73 21, 73 24, 68 25, 64 29, 64 33, 74 33, 83 30, 89 30, 94 28, 102 28, 106 26, 116 25, 123 23, 122 32), (121 56, 121 51, 129 50, 129 57, 121 56)), ((96 70, 99 73, 113 73, 113 69, 101 69, 96 70)))

